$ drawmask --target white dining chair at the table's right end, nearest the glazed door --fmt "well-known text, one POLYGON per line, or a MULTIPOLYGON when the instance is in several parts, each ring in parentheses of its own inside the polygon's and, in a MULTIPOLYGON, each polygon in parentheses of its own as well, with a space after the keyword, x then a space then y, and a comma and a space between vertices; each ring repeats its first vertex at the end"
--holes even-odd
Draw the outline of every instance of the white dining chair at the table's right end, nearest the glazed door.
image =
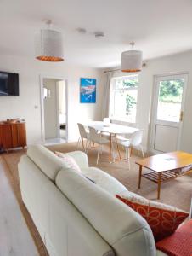
POLYGON ((131 150, 132 148, 138 148, 140 149, 142 156, 144 158, 144 150, 141 145, 142 139, 143 139, 144 130, 138 130, 134 131, 133 135, 130 137, 130 139, 126 140, 118 140, 118 144, 123 146, 126 151, 126 160, 128 161, 128 167, 130 169, 130 156, 131 156, 131 150))

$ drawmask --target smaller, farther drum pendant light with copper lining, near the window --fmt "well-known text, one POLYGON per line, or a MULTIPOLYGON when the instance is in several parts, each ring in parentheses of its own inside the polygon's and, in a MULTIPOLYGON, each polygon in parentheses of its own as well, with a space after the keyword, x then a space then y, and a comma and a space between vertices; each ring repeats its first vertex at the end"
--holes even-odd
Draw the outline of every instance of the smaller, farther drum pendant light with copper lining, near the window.
POLYGON ((139 72, 142 69, 142 51, 133 50, 134 43, 130 43, 131 50, 121 53, 121 71, 122 72, 139 72))

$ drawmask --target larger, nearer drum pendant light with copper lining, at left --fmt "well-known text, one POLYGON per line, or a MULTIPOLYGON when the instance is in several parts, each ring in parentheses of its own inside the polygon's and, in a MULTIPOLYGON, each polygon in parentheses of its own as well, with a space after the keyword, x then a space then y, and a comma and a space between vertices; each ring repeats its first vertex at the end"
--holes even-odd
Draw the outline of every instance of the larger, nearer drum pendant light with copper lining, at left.
POLYGON ((62 34, 51 29, 51 20, 47 20, 46 24, 48 29, 42 29, 36 35, 36 59, 51 62, 64 61, 62 34))

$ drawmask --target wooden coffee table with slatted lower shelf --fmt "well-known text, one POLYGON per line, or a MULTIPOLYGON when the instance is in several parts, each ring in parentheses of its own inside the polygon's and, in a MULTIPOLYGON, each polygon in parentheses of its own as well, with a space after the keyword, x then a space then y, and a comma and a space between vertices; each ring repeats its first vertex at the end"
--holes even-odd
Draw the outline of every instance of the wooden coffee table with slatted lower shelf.
POLYGON ((136 161, 136 164, 139 166, 138 189, 141 187, 141 177, 145 177, 158 184, 157 198, 160 199, 161 183, 192 172, 192 154, 182 151, 155 154, 136 161), (150 169, 150 172, 143 174, 142 167, 150 169))

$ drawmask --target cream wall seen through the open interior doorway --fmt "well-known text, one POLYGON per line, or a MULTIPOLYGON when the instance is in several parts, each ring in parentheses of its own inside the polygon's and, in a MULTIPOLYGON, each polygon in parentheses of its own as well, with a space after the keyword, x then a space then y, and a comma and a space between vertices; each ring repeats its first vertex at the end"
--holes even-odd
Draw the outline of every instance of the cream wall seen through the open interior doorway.
POLYGON ((44 103, 44 127, 45 139, 58 137, 57 117, 57 90, 56 79, 43 79, 43 87, 51 92, 50 97, 43 100, 44 103))

